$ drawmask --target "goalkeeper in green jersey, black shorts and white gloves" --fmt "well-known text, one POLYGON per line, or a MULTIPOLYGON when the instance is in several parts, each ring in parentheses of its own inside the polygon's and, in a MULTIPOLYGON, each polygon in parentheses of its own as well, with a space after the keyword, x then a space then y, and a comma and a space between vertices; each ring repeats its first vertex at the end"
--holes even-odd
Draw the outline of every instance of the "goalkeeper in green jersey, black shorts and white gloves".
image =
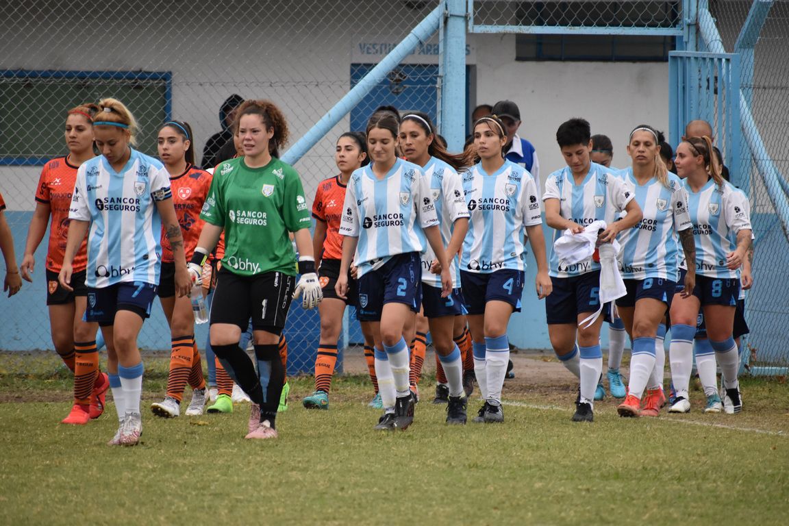
POLYGON ((315 308, 323 294, 315 273, 307 201, 301 179, 278 159, 288 126, 274 103, 248 100, 238 108, 236 129, 244 156, 219 163, 200 215, 206 222, 189 271, 199 280, 208 253, 224 229, 225 253, 211 304, 211 347, 226 371, 252 399, 246 438, 276 438, 276 416, 285 369, 279 337, 291 297, 315 308), (296 255, 289 232, 299 252, 296 255), (295 292, 294 292, 295 290, 295 292), (252 318, 257 372, 241 331, 252 318))

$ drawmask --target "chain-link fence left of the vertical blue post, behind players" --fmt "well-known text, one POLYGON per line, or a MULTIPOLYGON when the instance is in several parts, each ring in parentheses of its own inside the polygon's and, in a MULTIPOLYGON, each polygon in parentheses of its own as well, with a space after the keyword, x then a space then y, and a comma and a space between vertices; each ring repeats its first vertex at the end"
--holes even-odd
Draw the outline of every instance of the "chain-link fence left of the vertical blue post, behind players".
MULTIPOLYGON (((107 96, 120 99, 140 125, 140 151, 154 156, 159 126, 171 118, 187 121, 200 164, 208 138, 224 129, 219 120, 223 101, 234 94, 271 99, 286 115, 294 144, 437 5, 398 0, 6 2, 0 21, 0 192, 17 260, 23 256, 41 167, 68 153, 66 110, 107 96)), ((426 110, 436 117, 437 42, 434 35, 421 45, 295 164, 310 206, 318 183, 337 173, 338 136, 363 131, 376 107, 426 110)), ((35 281, 0 300, 0 350, 15 352, 0 360, 0 373, 32 371, 41 362, 24 352, 52 349, 43 275, 47 237, 36 252, 35 281)), ((358 333, 356 325, 351 315, 351 334, 358 333)), ((319 327, 317 311, 292 307, 285 330, 291 374, 312 372, 319 327)), ((200 349, 207 333, 207 325, 197 327, 200 349)), ((158 302, 139 343, 147 351, 170 348, 158 302)))

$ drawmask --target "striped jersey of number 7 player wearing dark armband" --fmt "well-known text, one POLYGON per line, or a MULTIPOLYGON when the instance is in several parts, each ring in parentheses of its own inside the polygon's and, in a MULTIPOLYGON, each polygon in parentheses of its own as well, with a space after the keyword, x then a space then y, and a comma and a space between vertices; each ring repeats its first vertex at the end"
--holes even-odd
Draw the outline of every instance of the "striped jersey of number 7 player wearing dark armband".
POLYGON ((103 155, 82 163, 69 219, 91 222, 86 285, 159 284, 162 220, 155 202, 170 197, 170 174, 139 151, 120 173, 103 155))

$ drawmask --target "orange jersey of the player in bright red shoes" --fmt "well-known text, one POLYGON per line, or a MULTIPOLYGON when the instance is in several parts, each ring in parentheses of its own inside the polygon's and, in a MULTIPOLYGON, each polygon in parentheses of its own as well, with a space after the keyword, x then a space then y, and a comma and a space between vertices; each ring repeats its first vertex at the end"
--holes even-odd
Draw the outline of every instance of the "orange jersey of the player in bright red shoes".
MULTIPOLYGON (((77 166, 69 162, 69 157, 57 157, 47 162, 41 170, 36 201, 50 207, 49 247, 47 248, 47 270, 60 272, 65 256, 65 243, 69 239, 69 207, 77 182, 77 166)), ((88 238, 72 262, 74 272, 85 270, 88 266, 88 238)))

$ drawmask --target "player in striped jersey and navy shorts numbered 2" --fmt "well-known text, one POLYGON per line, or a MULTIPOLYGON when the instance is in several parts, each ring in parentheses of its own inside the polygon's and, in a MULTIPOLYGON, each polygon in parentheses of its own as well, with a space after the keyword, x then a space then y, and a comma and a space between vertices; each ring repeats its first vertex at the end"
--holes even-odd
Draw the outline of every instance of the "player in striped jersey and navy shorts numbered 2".
POLYGON ((398 127, 398 118, 390 113, 376 113, 368 121, 373 163, 353 172, 346 190, 340 224, 345 238, 335 287, 339 297, 346 297, 353 261, 358 268, 359 319, 372 322, 376 345, 384 410, 376 429, 381 430, 406 429, 413 422, 403 328, 420 308, 425 240, 440 264, 441 296, 449 296, 452 289, 429 182, 419 166, 397 158, 398 127))

